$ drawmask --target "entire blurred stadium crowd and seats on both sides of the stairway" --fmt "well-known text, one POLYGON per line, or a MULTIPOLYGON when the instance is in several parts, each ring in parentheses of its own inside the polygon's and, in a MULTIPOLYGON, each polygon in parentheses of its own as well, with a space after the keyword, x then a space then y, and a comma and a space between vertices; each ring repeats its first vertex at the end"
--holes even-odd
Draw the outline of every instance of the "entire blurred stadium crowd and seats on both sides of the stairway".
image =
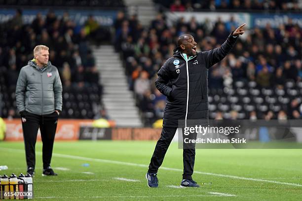
MULTIPOLYGON (((40 1, 42 3, 42 1, 40 1)), ((92 1, 86 1, 92 2, 92 1)), ((22 21, 18 9, 9 21, 0 24, 0 90, 2 116, 16 117, 14 90, 20 68, 33 58, 37 44, 50 48, 49 60, 57 66, 63 83, 65 118, 94 118, 106 115, 102 108, 100 73, 90 45, 113 44, 124 61, 129 88, 145 126, 161 119, 166 97, 154 86, 156 73, 173 55, 177 37, 193 35, 198 51, 217 47, 239 23, 230 17, 215 23, 198 23, 184 17, 168 23, 165 9, 267 10, 300 12, 296 0, 154 0, 161 4, 149 26, 137 15, 122 9, 113 26, 102 27, 93 16, 83 26, 76 25, 68 12, 58 18, 49 11, 37 14, 31 24, 22 21)), ((106 4, 107 5, 107 4, 106 4)), ((120 6, 123 3, 120 1, 120 6)), ((108 6, 108 5, 107 5, 108 6)), ((114 6, 116 6, 114 4, 114 6)), ((240 36, 231 54, 209 71, 210 118, 300 119, 302 114, 302 27, 291 18, 277 28, 250 27, 240 36)))

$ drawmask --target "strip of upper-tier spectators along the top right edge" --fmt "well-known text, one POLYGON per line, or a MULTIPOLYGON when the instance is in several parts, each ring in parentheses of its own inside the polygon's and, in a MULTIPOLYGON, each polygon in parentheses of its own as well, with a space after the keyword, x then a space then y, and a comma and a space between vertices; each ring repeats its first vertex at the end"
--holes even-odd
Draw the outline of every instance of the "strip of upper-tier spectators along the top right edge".
POLYGON ((153 0, 170 11, 207 10, 280 10, 301 11, 299 0, 153 0))

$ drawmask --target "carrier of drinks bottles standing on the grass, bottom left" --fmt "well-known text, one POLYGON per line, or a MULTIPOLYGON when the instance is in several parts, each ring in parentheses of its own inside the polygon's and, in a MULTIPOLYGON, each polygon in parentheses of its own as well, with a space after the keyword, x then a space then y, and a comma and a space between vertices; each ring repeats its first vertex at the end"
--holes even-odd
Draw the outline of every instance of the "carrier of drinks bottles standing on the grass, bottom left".
POLYGON ((33 178, 30 174, 0 175, 0 200, 33 199, 33 178))

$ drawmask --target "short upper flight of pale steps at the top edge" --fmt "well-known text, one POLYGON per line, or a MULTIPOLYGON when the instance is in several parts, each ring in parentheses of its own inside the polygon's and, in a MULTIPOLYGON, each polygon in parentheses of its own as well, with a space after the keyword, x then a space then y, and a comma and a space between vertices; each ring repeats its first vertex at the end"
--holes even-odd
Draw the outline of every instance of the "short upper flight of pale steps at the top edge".
POLYGON ((125 0, 124 2, 128 15, 137 14, 138 20, 143 26, 150 26, 157 13, 152 0, 125 0))

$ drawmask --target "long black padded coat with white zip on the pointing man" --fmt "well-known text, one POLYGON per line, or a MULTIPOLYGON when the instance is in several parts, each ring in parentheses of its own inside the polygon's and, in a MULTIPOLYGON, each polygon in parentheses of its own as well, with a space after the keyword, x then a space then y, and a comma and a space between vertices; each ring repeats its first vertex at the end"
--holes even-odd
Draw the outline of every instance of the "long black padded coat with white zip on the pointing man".
POLYGON ((227 56, 237 38, 231 33, 220 48, 198 52, 189 61, 184 59, 179 49, 175 49, 173 57, 159 69, 155 81, 156 88, 167 96, 163 126, 181 127, 179 120, 209 119, 209 68, 227 56))

